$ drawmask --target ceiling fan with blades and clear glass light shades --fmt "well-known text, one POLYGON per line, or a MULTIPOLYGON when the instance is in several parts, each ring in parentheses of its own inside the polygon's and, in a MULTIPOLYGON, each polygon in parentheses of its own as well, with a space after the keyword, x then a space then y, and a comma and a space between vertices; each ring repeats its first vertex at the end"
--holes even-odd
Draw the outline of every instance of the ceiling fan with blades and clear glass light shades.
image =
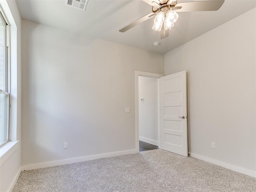
POLYGON ((177 3, 177 0, 142 0, 152 6, 152 13, 132 22, 128 26, 120 29, 120 32, 126 32, 130 28, 153 18, 153 30, 160 31, 161 39, 169 36, 169 31, 174 27, 174 23, 178 19, 177 12, 191 11, 217 11, 225 0, 205 0, 194 2, 177 3))

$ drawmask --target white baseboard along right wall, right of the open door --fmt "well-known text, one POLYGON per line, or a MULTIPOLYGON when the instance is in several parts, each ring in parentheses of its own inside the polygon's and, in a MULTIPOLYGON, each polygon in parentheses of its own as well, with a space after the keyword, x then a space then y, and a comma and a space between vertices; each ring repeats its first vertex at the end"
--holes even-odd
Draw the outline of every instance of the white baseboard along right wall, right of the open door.
POLYGON ((249 176, 252 176, 252 177, 256 178, 256 172, 255 171, 248 170, 248 169, 245 169, 245 168, 242 168, 242 167, 238 167, 238 166, 235 166, 235 165, 223 162, 223 161, 215 160, 215 159, 212 159, 212 158, 209 158, 209 157, 194 154, 194 153, 191 153, 191 152, 189 152, 189 154, 190 154, 190 157, 200 159, 200 160, 212 163, 212 164, 216 164, 218 166, 222 166, 224 168, 228 168, 228 169, 231 169, 233 171, 240 172, 240 173, 243 173, 243 174, 246 174, 246 175, 249 175, 249 176))

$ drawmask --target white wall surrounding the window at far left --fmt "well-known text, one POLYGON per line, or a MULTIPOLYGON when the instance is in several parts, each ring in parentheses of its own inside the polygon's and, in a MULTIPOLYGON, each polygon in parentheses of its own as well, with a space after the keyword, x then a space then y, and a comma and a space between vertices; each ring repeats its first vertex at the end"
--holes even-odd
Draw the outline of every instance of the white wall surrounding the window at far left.
POLYGON ((0 148, 0 191, 11 191, 21 166, 21 18, 15 0, 1 0, 0 6, 10 24, 10 140, 0 148), (14 145, 12 143, 15 143, 14 145), (2 151, 1 151, 2 154, 2 151))

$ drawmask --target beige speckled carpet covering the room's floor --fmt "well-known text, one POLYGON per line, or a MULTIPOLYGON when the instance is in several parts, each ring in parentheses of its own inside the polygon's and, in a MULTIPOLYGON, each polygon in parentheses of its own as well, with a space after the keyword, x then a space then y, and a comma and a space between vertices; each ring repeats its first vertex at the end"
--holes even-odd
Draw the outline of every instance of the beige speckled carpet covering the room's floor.
POLYGON ((157 149, 22 171, 13 192, 256 192, 256 178, 157 149))

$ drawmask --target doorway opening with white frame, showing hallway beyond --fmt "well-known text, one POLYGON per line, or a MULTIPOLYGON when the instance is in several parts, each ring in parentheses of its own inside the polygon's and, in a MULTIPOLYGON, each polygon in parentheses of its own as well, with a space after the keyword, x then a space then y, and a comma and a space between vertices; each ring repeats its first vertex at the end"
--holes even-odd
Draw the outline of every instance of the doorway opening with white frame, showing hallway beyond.
POLYGON ((159 78, 163 74, 135 71, 136 77, 136 150, 158 148, 159 78))

